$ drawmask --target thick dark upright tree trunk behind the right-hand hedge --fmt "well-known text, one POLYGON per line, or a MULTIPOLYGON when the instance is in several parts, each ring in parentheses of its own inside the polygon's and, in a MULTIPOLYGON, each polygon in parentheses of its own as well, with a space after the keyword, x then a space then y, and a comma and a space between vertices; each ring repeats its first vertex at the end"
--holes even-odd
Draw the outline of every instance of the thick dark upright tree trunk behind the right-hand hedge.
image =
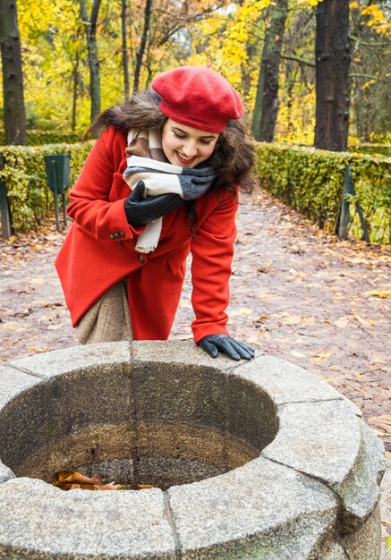
POLYGON ((349 129, 349 0, 317 6, 315 147, 344 151, 349 129))

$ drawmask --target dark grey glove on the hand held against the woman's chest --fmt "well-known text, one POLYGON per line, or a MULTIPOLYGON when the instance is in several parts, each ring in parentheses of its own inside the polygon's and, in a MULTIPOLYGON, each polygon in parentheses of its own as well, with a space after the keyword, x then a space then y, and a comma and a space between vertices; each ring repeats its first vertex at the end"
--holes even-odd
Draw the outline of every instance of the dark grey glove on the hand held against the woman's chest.
POLYGON ((157 197, 143 199, 144 189, 144 182, 139 181, 124 202, 126 219, 132 227, 138 228, 143 224, 149 224, 183 204, 179 194, 160 194, 157 197))

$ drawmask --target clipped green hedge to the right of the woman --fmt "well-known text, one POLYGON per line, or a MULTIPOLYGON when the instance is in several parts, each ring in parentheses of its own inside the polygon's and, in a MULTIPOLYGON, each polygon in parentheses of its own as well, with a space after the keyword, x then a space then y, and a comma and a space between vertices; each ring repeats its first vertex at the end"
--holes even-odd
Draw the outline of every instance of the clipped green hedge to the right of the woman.
MULTIPOLYGON (((391 158, 329 152, 290 145, 256 144, 259 184, 318 224, 333 230, 350 164, 357 199, 371 242, 389 242, 391 225, 391 158)), ((352 206, 354 210, 354 206, 352 206)), ((352 211, 353 215, 353 211, 352 211)), ((361 239, 358 216, 350 233, 361 239)))

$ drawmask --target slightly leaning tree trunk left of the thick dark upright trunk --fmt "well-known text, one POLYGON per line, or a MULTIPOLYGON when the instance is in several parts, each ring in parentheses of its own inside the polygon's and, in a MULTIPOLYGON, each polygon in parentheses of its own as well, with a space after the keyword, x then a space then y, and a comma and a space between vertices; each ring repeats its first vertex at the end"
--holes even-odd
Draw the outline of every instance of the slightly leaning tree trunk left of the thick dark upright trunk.
POLYGON ((272 142, 274 139, 278 115, 278 72, 287 13, 288 0, 276 0, 265 37, 252 116, 252 133, 256 140, 272 142))

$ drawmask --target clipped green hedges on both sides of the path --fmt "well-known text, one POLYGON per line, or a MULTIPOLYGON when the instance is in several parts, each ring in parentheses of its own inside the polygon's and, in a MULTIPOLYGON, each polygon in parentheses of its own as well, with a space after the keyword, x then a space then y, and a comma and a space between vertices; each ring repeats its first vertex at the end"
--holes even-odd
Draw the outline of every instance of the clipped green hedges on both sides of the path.
MULTIPOLYGON (((5 182, 7 186, 13 226, 17 232, 38 225, 52 207, 53 194, 47 188, 44 155, 71 155, 72 185, 92 144, 89 141, 40 147, 0 146, 0 157, 5 160, 0 182, 5 182)), ((348 163, 371 242, 389 242, 391 158, 262 142, 256 144, 255 168, 260 186, 329 230, 334 230, 336 226, 344 169, 348 163)), ((351 233, 361 238, 357 216, 354 217, 351 233)))

